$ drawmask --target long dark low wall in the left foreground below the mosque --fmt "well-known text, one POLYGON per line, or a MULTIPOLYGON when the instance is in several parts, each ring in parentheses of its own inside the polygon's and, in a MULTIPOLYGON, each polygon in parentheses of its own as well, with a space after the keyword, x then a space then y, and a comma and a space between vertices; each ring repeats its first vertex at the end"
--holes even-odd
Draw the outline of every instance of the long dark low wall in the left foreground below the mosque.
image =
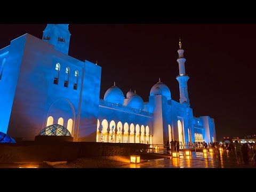
POLYGON ((0 162, 72 161, 79 157, 131 155, 146 151, 141 143, 39 142, 0 143, 0 162))

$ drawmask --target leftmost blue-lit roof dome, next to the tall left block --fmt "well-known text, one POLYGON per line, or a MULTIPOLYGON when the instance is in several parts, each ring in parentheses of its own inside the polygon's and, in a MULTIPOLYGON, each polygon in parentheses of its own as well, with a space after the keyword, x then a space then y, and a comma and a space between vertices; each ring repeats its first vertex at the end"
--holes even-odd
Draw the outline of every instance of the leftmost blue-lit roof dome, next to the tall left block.
POLYGON ((106 91, 104 100, 124 104, 124 93, 114 85, 106 91))

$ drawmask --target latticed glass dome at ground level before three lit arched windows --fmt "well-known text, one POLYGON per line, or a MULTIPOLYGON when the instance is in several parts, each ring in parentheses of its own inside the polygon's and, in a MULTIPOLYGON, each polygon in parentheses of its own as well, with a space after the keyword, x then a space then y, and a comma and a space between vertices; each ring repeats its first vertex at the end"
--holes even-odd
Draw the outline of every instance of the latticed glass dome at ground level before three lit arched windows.
POLYGON ((59 124, 53 124, 45 127, 38 135, 71 136, 70 132, 64 126, 59 124))

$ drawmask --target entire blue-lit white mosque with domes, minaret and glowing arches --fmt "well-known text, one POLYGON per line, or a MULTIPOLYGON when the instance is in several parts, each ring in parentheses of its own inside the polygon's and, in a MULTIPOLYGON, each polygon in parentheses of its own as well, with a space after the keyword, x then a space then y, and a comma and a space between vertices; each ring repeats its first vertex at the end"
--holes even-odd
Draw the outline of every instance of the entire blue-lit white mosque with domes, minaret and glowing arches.
POLYGON ((161 79, 148 101, 135 91, 124 94, 115 83, 100 99, 101 67, 68 55, 68 27, 48 24, 42 39, 25 34, 0 50, 0 132, 15 140, 34 140, 44 127, 59 124, 73 141, 216 141, 214 119, 195 117, 190 108, 181 42, 179 102, 161 79))

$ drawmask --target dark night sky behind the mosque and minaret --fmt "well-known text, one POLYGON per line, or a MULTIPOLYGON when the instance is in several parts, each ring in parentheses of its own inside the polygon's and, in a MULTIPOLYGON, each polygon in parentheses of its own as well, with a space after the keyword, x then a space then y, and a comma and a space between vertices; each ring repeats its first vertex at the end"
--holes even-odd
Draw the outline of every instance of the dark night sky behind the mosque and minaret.
MULTIPOLYGON (((45 25, 0 25, 0 47, 25 33, 42 38, 45 25)), ((101 93, 113 85, 148 101, 161 81, 179 101, 179 37, 187 59, 194 116, 215 119, 217 138, 255 134, 256 25, 69 25, 69 55, 102 67, 101 93)))

